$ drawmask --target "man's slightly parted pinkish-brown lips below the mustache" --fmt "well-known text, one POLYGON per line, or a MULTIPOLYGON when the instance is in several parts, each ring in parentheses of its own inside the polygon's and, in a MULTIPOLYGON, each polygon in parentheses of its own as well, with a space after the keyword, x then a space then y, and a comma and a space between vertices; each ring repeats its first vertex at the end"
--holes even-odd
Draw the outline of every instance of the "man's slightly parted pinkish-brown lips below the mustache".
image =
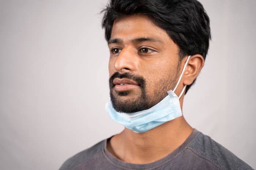
POLYGON ((139 84, 129 79, 114 79, 113 83, 116 85, 114 88, 117 91, 127 91, 133 87, 139 87, 139 84))

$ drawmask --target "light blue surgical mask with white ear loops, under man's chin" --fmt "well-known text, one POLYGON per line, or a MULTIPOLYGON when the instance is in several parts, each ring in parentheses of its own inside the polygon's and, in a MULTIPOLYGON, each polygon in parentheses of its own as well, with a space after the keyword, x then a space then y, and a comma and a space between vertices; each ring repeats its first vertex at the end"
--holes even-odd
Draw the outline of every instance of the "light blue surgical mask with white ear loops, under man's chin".
POLYGON ((177 117, 182 116, 181 108, 180 108, 180 97, 182 96, 186 86, 183 87, 180 96, 177 96, 174 91, 178 87, 182 75, 185 71, 185 68, 188 64, 190 56, 188 56, 187 62, 181 72, 180 78, 173 90, 167 91, 168 95, 157 103, 155 106, 134 113, 121 113, 117 112, 113 106, 111 101, 109 100, 106 103, 105 109, 109 114, 109 117, 115 122, 124 125, 126 128, 136 132, 136 133, 144 133, 157 127, 165 122, 173 120, 177 117))

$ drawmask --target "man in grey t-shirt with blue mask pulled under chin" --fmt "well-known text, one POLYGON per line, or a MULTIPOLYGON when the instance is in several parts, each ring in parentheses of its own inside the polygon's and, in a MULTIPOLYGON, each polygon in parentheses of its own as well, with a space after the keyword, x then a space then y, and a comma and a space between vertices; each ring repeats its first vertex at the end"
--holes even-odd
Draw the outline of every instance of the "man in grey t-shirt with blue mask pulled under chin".
POLYGON ((211 38, 203 6, 196 0, 110 0, 104 12, 106 111, 125 128, 60 169, 252 169, 182 116, 211 38))

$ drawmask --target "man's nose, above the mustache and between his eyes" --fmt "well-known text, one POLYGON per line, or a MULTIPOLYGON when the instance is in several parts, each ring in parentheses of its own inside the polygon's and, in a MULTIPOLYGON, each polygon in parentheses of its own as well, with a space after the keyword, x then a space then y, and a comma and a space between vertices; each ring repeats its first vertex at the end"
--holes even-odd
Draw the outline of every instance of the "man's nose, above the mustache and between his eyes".
POLYGON ((120 73, 135 71, 138 66, 138 56, 132 47, 125 47, 117 56, 114 68, 120 73))

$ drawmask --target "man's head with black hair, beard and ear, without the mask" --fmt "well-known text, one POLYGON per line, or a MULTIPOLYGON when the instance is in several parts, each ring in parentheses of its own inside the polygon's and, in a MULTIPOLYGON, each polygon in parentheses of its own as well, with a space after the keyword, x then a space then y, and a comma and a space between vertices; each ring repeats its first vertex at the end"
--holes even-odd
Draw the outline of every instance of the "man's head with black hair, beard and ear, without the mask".
POLYGON ((198 1, 110 0, 104 11, 110 97, 117 111, 157 104, 173 90, 188 55, 195 55, 182 80, 188 91, 203 67, 210 39, 209 18, 198 1))

